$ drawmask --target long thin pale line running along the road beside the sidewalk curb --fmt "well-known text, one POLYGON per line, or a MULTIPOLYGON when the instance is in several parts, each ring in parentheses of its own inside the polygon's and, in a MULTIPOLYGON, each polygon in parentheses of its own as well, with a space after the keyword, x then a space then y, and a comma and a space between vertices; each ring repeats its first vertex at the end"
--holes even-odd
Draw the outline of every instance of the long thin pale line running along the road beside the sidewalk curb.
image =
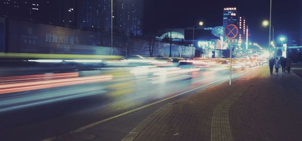
MULTIPOLYGON (((250 72, 250 71, 252 71, 252 70, 254 70, 254 69, 248 70, 248 71, 246 71, 246 72, 239 73, 239 74, 236 75, 236 77, 239 77, 239 76, 241 76, 241 75, 244 75, 244 74, 246 74, 246 73, 248 73, 248 72, 250 72)), ((71 132, 71 133, 78 133, 78 132, 81 132, 81 131, 83 131, 83 130, 86 130, 86 129, 88 129, 88 128, 94 127, 94 126, 96 126, 96 125, 98 125, 98 124, 104 123, 104 122, 109 121, 109 120, 111 120, 111 119, 114 119, 114 118, 117 118, 117 117, 120 117, 120 116, 129 114, 129 113, 138 111, 138 110, 140 110, 140 109, 143 109, 143 108, 146 108, 146 107, 149 107, 149 106, 158 104, 158 103, 160 103, 160 102, 163 102, 163 101, 172 99, 172 98, 174 98, 174 97, 177 97, 177 96, 186 94, 186 93, 188 93, 188 92, 191 92, 191 91, 194 91, 194 90, 197 90, 197 89, 200 89, 200 88, 204 88, 204 87, 206 87, 206 86, 209 86, 209 85, 211 85, 211 84, 217 83, 217 82, 219 82, 219 81, 227 80, 227 79, 229 79, 229 78, 230 78, 229 76, 223 77, 223 78, 221 78, 221 79, 218 79, 218 80, 216 80, 216 81, 213 81, 213 82, 208 83, 208 84, 205 84, 205 85, 202 85, 202 86, 200 86, 200 87, 196 87, 196 88, 187 90, 187 91, 185 91, 185 92, 179 93, 179 94, 177 94, 177 95, 174 95, 174 96, 171 96, 171 97, 168 97, 168 98, 165 98, 165 99, 162 99, 162 100, 159 100, 159 101, 156 101, 156 102, 153 102, 153 103, 150 103, 150 104, 147 104, 147 105, 144 105, 144 106, 141 106, 141 107, 138 107, 138 108, 135 108, 135 109, 126 111, 126 112, 123 112, 123 113, 121 113, 121 114, 117 114, 117 115, 115 115, 115 116, 112 116, 112 117, 109 117, 109 118, 106 118, 106 119, 103 119, 103 120, 100 120, 100 121, 97 121, 97 122, 88 124, 88 125, 86 125, 86 126, 80 127, 80 128, 78 128, 78 129, 72 130, 72 131, 70 131, 70 132, 71 132)), ((41 141, 51 141, 51 140, 55 140, 55 139, 56 139, 56 136, 52 136, 52 137, 43 139, 43 140, 41 140, 41 141)))

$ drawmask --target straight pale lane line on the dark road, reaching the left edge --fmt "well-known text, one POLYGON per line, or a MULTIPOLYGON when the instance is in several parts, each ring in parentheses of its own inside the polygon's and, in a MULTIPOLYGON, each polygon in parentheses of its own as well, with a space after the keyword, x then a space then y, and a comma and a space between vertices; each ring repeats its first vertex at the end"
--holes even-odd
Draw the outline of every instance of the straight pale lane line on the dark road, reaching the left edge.
POLYGON ((82 96, 82 95, 86 95, 86 94, 91 94, 91 93, 95 93, 95 92, 99 92, 99 91, 104 91, 104 90, 97 90, 97 91, 88 92, 88 93, 82 93, 82 94, 78 94, 78 95, 65 96, 65 97, 51 99, 51 100, 46 100, 46 101, 40 101, 40 102, 35 102, 35 103, 30 103, 30 104, 24 104, 24 105, 18 105, 18 106, 13 106, 13 107, 8 107, 8 108, 2 108, 2 109, 0 109, 0 112, 9 111, 9 110, 18 109, 18 108, 29 107, 29 106, 38 105, 38 104, 50 103, 50 102, 53 102, 53 101, 68 99, 68 98, 72 98, 72 97, 78 97, 78 96, 82 96))

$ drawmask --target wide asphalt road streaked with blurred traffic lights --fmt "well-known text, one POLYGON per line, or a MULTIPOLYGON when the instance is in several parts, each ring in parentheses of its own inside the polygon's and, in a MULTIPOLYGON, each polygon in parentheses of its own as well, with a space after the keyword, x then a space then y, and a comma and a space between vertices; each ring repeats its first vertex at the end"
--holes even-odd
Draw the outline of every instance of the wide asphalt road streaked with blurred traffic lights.
MULTIPOLYGON (((248 70, 251 68, 235 71, 234 77, 248 70)), ((198 69, 149 66, 78 72, 81 78, 111 76, 112 79, 86 83, 64 78, 81 83, 54 87, 53 84, 58 83, 49 82, 43 89, 0 94, 0 140, 42 140, 80 127, 85 129, 82 132, 93 134, 93 140, 120 140, 164 104, 229 77, 228 67, 222 65, 198 69)), ((57 139, 74 140, 68 135, 57 139)))

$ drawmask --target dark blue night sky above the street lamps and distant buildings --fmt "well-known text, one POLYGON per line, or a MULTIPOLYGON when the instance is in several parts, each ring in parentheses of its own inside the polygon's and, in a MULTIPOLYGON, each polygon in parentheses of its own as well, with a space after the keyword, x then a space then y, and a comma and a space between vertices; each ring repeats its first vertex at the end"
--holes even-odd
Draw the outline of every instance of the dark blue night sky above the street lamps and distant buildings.
MULTIPOLYGON (((280 35, 298 39, 302 33, 302 0, 272 1, 275 40, 280 35)), ((237 7, 246 17, 252 42, 265 45, 268 28, 261 23, 269 20, 269 4, 269 0, 144 0, 144 29, 193 27, 200 20, 205 27, 222 26, 223 8, 237 7)))

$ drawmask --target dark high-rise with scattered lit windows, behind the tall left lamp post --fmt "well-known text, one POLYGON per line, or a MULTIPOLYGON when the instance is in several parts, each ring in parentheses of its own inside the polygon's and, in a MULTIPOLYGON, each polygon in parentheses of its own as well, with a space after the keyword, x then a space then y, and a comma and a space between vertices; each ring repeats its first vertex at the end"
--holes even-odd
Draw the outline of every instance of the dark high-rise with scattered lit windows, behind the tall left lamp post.
MULTIPOLYGON (((113 0, 113 30, 125 36, 142 35, 142 0, 113 0)), ((111 31, 111 0, 79 0, 78 26, 111 31)))

